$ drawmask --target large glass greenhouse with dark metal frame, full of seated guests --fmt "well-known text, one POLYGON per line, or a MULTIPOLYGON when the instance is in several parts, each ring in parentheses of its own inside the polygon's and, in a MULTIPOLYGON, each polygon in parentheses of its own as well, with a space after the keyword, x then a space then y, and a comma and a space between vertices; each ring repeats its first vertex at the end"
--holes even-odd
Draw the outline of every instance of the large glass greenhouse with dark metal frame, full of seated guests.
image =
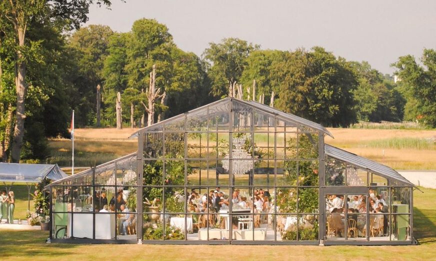
POLYGON ((50 241, 415 244, 413 184, 325 135, 235 98, 145 127, 137 152, 47 187, 50 241))

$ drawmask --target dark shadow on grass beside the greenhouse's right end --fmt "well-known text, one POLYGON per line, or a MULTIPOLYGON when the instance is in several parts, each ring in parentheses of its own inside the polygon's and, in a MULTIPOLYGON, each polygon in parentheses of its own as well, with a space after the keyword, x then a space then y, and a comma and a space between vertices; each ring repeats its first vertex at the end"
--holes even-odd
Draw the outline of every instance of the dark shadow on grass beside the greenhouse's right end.
POLYGON ((436 243, 436 210, 413 208, 413 235, 419 244, 436 243))

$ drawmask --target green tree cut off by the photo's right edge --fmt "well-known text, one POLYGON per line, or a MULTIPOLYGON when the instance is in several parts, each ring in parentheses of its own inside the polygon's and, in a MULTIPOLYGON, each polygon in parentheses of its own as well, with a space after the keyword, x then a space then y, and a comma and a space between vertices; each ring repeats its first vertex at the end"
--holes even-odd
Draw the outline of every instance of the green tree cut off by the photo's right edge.
POLYGON ((436 50, 424 49, 418 65, 411 55, 401 56, 392 65, 401 80, 409 98, 406 104, 409 112, 414 112, 415 120, 426 126, 436 127, 436 50))

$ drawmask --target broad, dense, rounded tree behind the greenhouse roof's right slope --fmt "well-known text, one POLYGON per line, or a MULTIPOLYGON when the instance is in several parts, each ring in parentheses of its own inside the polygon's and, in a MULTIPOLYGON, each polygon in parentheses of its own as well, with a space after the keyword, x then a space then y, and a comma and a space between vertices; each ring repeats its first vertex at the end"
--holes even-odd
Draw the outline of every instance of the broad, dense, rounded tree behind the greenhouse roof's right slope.
POLYGON ((346 127, 356 120, 352 108, 355 74, 343 58, 321 47, 297 49, 271 64, 276 107, 326 126, 346 127))

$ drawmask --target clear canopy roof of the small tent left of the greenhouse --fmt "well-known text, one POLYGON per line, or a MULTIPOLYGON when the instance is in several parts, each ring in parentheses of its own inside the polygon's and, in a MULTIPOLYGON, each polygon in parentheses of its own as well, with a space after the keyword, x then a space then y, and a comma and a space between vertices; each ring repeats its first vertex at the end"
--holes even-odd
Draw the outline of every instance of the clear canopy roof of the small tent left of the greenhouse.
POLYGON ((41 182, 44 178, 59 180, 68 177, 60 168, 48 164, 0 163, 1 182, 41 182))

